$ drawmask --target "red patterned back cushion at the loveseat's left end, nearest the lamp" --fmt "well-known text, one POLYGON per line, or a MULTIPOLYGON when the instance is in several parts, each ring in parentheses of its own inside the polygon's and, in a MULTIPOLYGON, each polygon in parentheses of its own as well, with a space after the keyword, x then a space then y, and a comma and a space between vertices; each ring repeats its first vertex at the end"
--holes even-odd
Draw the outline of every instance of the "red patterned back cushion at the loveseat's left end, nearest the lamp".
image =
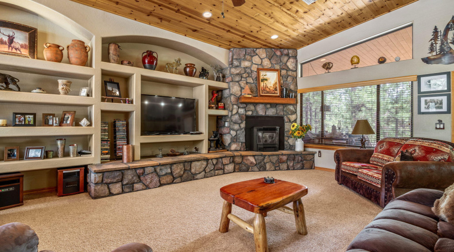
POLYGON ((378 141, 369 162, 383 167, 385 164, 394 161, 405 142, 407 141, 397 138, 384 138, 378 141))

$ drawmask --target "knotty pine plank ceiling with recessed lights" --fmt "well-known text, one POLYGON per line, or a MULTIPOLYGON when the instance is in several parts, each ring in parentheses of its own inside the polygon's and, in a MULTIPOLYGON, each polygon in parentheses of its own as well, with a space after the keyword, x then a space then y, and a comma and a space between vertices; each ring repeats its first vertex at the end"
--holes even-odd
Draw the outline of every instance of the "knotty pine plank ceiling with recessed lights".
POLYGON ((71 0, 222 48, 296 48, 418 0, 71 0), (211 18, 202 13, 211 12, 211 18), (271 39, 278 35, 277 39, 271 39))

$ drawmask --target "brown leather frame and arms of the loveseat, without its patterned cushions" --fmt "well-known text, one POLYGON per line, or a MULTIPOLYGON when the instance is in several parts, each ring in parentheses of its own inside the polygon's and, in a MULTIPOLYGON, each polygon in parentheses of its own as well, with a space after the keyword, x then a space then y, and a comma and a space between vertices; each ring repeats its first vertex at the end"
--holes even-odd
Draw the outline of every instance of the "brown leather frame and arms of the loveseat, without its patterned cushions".
MULTIPOLYGON (((396 138, 405 141, 409 138, 396 138)), ((441 140, 418 138, 437 141, 454 147, 454 143, 441 140)), ((385 207, 392 199, 416 188, 430 188, 444 191, 454 183, 454 163, 439 161, 399 161, 389 162, 379 171, 378 184, 366 182, 358 175, 341 169, 344 162, 356 162, 370 165, 374 149, 338 149, 334 152, 336 163, 335 179, 351 190, 385 207)), ((430 153, 429 153, 430 154, 430 153)), ((365 167, 367 168, 367 167, 365 167)))

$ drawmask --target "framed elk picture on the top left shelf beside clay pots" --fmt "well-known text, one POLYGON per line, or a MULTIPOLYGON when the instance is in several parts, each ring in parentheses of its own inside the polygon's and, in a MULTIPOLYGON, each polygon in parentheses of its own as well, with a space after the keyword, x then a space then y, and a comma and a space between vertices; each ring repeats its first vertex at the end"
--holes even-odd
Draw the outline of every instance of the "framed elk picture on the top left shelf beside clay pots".
POLYGON ((0 20, 0 54, 36 58, 36 28, 0 20))

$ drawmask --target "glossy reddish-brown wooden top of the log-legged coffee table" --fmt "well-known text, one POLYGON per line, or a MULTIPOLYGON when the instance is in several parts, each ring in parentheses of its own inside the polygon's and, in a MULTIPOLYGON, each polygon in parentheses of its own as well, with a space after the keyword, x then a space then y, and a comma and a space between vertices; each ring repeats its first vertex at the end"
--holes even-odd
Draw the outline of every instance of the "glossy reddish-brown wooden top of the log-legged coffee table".
POLYGON ((225 201, 261 214, 283 207, 307 195, 307 186, 279 179, 268 184, 262 178, 237 182, 220 188, 225 201))

